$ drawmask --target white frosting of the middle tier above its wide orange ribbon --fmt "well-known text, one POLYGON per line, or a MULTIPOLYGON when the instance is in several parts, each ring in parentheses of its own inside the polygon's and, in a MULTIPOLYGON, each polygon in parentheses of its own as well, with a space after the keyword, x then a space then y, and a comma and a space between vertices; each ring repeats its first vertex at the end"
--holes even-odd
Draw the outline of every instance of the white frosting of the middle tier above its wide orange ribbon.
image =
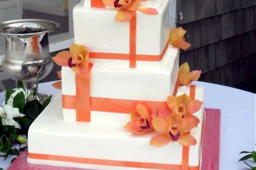
MULTIPOLYGON (((128 61, 108 62, 92 61, 90 97, 163 102, 174 91, 179 66, 177 48, 170 46, 160 62, 137 61, 137 68, 126 67, 128 61)), ((62 67, 63 95, 76 96, 76 90, 76 74, 62 67)))

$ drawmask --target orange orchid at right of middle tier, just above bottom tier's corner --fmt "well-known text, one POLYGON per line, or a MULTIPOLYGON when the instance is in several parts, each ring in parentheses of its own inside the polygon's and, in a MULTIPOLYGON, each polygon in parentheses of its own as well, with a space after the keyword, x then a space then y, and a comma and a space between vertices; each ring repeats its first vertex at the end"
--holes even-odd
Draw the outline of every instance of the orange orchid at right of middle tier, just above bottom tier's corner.
POLYGON ((197 81, 201 75, 201 71, 194 70, 190 72, 190 67, 187 62, 179 68, 179 83, 180 86, 188 86, 192 81, 197 81))

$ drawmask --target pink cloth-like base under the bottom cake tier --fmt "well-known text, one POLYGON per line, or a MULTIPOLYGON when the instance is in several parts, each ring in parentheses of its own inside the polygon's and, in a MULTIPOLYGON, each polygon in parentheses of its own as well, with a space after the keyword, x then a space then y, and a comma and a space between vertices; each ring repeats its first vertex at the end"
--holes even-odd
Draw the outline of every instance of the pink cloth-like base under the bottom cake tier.
MULTIPOLYGON (((201 170, 219 170, 220 114, 219 109, 206 109, 201 170)), ((79 170, 79 168, 30 164, 27 163, 27 154, 27 150, 21 153, 8 170, 79 170)))

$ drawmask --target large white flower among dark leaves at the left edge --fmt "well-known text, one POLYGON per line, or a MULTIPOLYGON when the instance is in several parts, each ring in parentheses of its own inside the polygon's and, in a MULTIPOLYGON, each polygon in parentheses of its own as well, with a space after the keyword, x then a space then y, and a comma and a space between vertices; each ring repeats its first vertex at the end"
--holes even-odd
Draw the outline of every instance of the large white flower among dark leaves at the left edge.
POLYGON ((5 125, 11 125, 15 126, 15 128, 20 129, 21 126, 18 122, 13 120, 13 118, 16 117, 23 117, 25 115, 20 114, 18 108, 13 108, 10 105, 5 105, 4 107, 0 106, 0 117, 2 117, 2 124, 5 125))

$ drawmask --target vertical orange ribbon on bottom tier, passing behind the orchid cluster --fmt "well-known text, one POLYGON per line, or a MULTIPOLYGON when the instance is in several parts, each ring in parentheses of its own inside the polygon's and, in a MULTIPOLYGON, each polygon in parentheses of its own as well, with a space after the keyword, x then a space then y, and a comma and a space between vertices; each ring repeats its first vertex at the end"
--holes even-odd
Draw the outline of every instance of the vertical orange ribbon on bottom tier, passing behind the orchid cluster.
MULTIPOLYGON (((195 99, 195 86, 190 85, 190 93, 189 96, 192 100, 195 99)), ((181 170, 189 170, 188 166, 189 161, 189 146, 183 146, 182 147, 182 164, 181 164, 181 170)))

